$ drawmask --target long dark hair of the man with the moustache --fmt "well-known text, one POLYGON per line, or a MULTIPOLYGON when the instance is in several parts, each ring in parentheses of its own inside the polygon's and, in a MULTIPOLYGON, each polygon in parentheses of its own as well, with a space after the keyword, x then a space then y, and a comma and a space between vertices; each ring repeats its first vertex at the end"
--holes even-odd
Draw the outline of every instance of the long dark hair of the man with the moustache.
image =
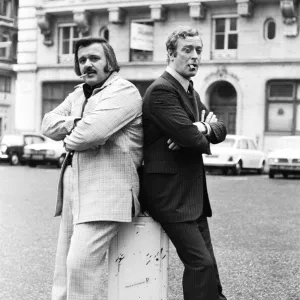
POLYGON ((102 45, 104 50, 104 55, 106 57, 106 66, 104 67, 105 72, 119 72, 120 66, 118 64, 116 54, 112 46, 107 42, 107 40, 98 37, 84 37, 78 40, 75 44, 75 56, 74 56, 74 67, 76 75, 81 75, 79 61, 78 61, 78 50, 80 47, 87 47, 92 44, 99 43, 102 45))

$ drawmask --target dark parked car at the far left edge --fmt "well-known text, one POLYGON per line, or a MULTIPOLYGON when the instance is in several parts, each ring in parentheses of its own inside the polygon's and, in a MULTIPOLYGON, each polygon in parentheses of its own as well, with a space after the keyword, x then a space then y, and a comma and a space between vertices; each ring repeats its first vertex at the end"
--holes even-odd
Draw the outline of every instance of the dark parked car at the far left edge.
POLYGON ((42 135, 33 133, 4 134, 0 138, 0 161, 11 165, 24 164, 24 147, 32 143, 44 143, 42 135))

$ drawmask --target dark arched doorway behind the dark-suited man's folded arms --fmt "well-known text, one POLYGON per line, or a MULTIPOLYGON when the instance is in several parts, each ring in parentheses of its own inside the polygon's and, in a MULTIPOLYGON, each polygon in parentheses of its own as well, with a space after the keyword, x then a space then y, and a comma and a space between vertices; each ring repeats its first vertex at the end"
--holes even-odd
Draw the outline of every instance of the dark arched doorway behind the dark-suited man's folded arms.
POLYGON ((209 107, 222 120, 229 134, 236 133, 236 90, 227 81, 219 81, 212 89, 209 107))

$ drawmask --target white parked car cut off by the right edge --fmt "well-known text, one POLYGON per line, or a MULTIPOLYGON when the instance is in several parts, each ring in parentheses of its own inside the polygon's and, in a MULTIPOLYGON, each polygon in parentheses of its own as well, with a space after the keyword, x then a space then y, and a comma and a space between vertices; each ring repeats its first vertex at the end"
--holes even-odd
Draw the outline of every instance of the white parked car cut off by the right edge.
POLYGON ((268 154, 269 177, 300 174, 300 136, 283 136, 276 149, 268 154))

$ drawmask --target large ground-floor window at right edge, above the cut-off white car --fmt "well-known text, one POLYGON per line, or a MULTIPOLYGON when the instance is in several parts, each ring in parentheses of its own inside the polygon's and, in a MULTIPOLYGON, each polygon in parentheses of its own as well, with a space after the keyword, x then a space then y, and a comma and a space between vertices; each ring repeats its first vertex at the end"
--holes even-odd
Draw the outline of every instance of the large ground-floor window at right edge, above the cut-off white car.
POLYGON ((266 131, 300 134, 300 81, 267 85, 266 131))

